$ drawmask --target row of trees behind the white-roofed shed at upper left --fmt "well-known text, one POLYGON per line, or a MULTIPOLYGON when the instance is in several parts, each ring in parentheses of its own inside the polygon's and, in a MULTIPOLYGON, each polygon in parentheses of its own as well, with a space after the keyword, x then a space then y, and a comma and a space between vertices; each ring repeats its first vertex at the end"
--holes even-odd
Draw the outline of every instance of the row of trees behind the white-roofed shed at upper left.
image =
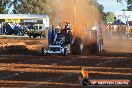
POLYGON ((0 13, 47 14, 48 0, 0 0, 0 13))

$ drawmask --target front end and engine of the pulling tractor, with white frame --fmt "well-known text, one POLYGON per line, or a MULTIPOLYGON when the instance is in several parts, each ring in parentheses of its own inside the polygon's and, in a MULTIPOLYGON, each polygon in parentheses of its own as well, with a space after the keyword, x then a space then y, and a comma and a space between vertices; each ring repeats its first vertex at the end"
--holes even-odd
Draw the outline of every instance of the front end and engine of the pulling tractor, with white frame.
POLYGON ((49 35, 48 37, 52 37, 51 39, 48 39, 48 41, 51 42, 48 44, 48 47, 46 49, 42 47, 43 55, 61 54, 66 56, 68 53, 70 53, 71 28, 69 27, 68 23, 65 25, 64 29, 56 33, 55 29, 52 27, 51 35, 49 35))

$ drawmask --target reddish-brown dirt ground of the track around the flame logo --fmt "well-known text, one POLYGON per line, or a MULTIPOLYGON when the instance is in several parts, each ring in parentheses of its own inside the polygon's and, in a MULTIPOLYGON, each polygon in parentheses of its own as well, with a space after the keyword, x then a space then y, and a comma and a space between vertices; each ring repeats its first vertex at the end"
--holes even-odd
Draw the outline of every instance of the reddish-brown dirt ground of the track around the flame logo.
POLYGON ((1 38, 0 87, 82 88, 78 81, 82 67, 89 68, 91 79, 132 80, 132 40, 105 39, 104 48, 109 53, 101 55, 64 57, 32 53, 46 45, 46 39, 1 38))

